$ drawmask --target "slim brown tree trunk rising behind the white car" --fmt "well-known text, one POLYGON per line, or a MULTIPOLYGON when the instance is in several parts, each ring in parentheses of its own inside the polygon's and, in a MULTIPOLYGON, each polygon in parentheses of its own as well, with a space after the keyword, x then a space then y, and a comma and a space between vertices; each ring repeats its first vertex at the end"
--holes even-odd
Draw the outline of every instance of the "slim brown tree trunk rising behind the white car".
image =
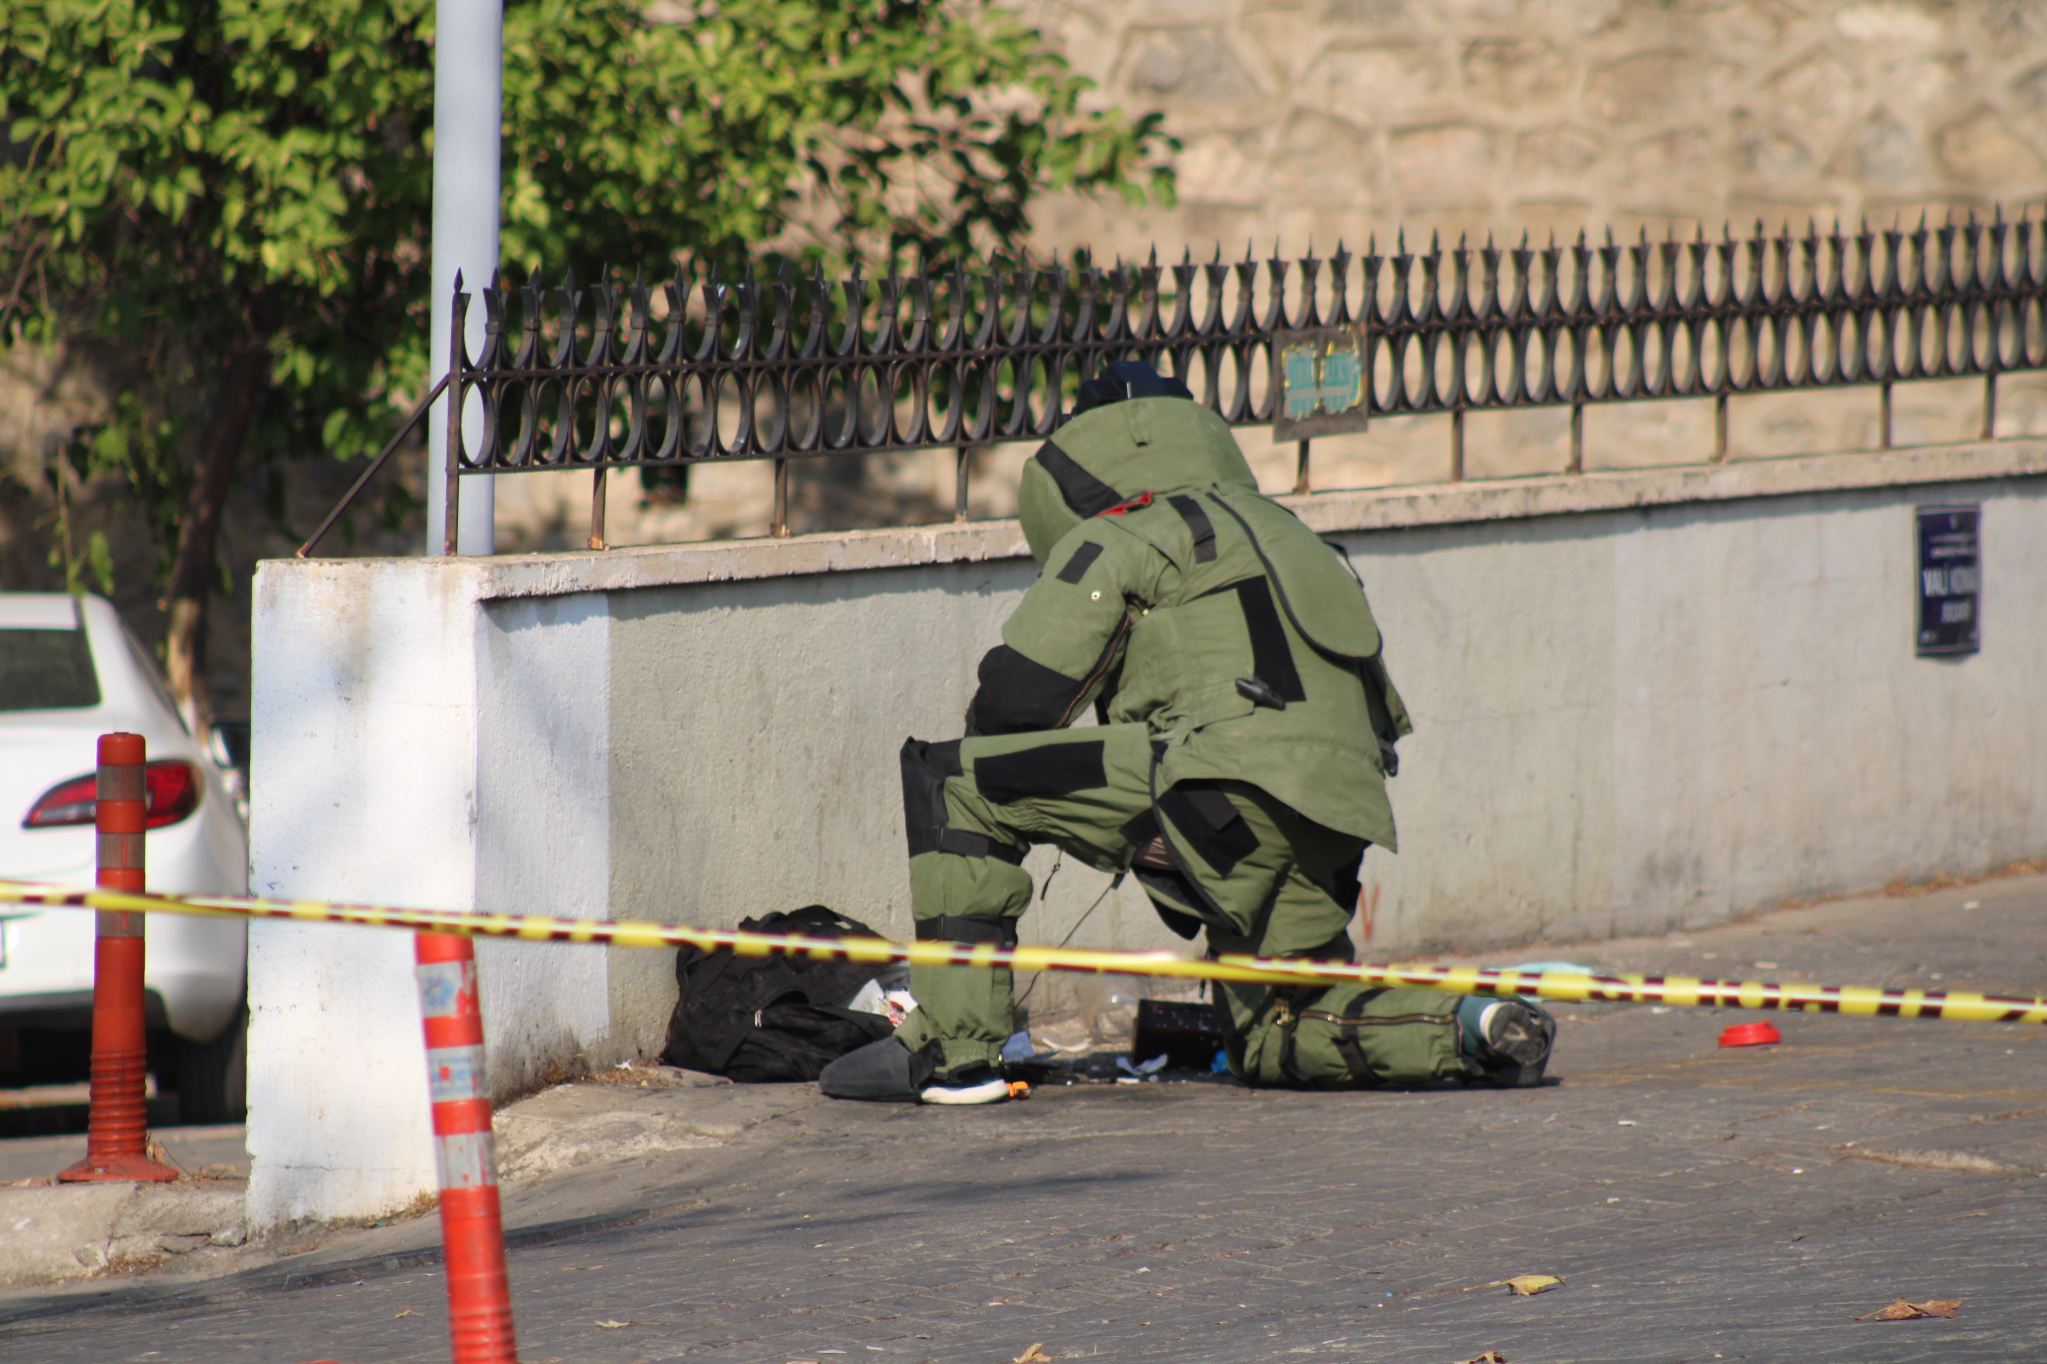
POLYGON ((205 738, 213 708, 207 701, 207 597, 213 593, 215 546, 221 511, 235 481, 235 464, 248 444, 256 405, 270 384, 270 348, 237 350, 213 393, 207 427, 199 442, 199 479, 184 503, 178 526, 178 558, 170 569, 170 638, 164 673, 170 695, 192 734, 205 738))

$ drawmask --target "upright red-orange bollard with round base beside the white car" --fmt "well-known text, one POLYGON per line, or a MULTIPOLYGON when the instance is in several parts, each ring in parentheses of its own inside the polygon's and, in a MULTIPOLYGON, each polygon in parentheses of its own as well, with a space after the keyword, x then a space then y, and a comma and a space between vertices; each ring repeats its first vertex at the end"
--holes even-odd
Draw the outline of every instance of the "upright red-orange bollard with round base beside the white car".
MULTIPOLYGON (((143 830, 149 822, 141 734, 100 734, 94 777, 98 830, 96 881, 106 890, 143 890, 143 830)), ((147 1020, 141 1006, 141 914, 98 912, 92 943, 92 1108, 86 1117, 86 1157, 57 1178, 176 1180, 178 1172, 149 1160, 147 1020)))

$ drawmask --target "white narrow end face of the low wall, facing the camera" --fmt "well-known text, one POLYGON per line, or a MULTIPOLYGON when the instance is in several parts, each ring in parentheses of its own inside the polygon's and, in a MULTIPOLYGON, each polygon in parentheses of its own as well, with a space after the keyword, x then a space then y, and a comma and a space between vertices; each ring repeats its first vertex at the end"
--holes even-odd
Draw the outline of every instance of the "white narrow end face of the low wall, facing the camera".
MULTIPOLYGON (((256 577, 252 894, 475 902, 473 575, 407 569, 256 577)), ((256 1223, 411 1202, 434 1178, 424 1065, 409 937, 252 924, 256 1223)))

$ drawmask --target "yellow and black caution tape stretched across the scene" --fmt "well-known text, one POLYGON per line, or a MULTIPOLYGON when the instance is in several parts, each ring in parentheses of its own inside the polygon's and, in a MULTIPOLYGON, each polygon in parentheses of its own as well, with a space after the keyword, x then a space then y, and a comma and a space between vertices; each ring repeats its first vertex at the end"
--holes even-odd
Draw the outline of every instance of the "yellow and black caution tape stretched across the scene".
POLYGON ((1255 986, 1374 988, 1419 986, 1449 994, 1494 994, 1558 1004, 1676 1004, 1685 1008, 1787 1008, 1808 1014, 1879 1014, 1891 1018, 1959 1018, 1963 1022, 2047 1022, 2047 998, 1973 994, 1967 990, 1879 990, 1875 986, 1758 984, 1691 975, 1593 975, 1586 971, 1515 971, 1476 965, 1367 965, 1300 957, 1175 957, 1173 953, 1089 951, 1077 947, 995 947, 993 943, 890 943, 886 939, 813 939, 800 933, 684 928, 635 920, 551 918, 545 914, 469 914, 463 910, 399 910, 317 900, 244 896, 139 896, 33 881, 0 881, 0 904, 51 908, 203 914, 299 924, 362 924, 413 933, 520 939, 526 943, 616 943, 620 947, 682 947, 731 951, 741 957, 802 953, 847 961, 911 965, 1007 965, 1017 971, 1085 971, 1222 980, 1255 986))

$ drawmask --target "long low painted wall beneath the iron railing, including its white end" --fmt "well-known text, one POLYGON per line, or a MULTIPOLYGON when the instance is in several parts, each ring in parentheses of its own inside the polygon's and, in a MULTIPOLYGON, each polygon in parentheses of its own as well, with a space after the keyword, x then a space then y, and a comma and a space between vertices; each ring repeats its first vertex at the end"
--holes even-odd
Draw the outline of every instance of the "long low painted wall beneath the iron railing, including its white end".
MULTIPOLYGON (((2047 442, 1322 495, 1414 714, 1371 947, 1697 924, 2047 851, 2047 442), (1922 661, 1914 505, 1981 501, 1922 661)), ((958 734, 1013 521, 258 575, 264 894, 909 930, 897 746, 958 734)), ((1040 877, 1050 855, 1028 863, 1040 877)), ((1024 922, 1060 941, 1105 877, 1024 922)), ((1177 945, 1124 888, 1075 937, 1177 945)), ((258 1225, 430 1186, 409 945, 252 930, 258 1225)), ((665 953, 485 945, 499 1096, 651 1055, 665 953)), ((1042 992, 1038 1002, 1044 1002, 1042 992)))

